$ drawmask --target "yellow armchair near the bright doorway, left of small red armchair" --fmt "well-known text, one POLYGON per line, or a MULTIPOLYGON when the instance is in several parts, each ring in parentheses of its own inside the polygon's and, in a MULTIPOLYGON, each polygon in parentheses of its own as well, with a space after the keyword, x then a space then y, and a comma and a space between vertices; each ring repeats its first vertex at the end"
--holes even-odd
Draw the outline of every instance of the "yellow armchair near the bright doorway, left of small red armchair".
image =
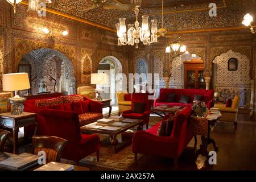
POLYGON ((123 113, 125 110, 131 109, 131 101, 125 100, 125 94, 127 94, 126 90, 115 92, 115 95, 117 96, 118 115, 123 113))

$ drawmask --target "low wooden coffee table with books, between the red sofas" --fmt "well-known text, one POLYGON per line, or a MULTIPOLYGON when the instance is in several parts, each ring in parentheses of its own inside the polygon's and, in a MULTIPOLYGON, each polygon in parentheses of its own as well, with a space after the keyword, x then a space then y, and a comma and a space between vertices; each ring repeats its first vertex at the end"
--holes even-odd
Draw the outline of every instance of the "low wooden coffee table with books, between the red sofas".
MULTIPOLYGON (((97 125, 97 122, 94 122, 90 125, 97 125)), ((110 126, 111 123, 108 125, 110 126)), ((142 130, 143 128, 143 120, 139 120, 138 122, 131 123, 129 126, 121 127, 118 131, 106 131, 106 130, 100 130, 100 129, 90 129, 88 128, 88 125, 82 126, 80 130, 85 133, 98 133, 98 134, 107 134, 110 135, 110 140, 105 139, 101 141, 101 146, 109 146, 111 144, 112 146, 112 152, 113 154, 117 154, 118 151, 122 150, 123 148, 129 146, 133 139, 133 133, 130 134, 127 130, 132 129, 133 127, 138 126, 137 130, 142 130), (126 134, 125 134, 126 133, 126 134), (122 139, 117 139, 118 134, 123 134, 126 137, 122 137, 122 139)))

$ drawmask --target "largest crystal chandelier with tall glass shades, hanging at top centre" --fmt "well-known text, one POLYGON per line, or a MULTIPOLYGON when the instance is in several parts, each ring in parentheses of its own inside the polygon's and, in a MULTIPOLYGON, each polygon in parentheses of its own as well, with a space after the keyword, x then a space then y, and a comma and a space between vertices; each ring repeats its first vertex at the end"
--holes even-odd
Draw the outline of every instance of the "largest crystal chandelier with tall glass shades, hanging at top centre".
POLYGON ((134 46, 138 48, 138 44, 141 41, 145 46, 150 46, 152 43, 158 42, 158 26, 157 20, 151 20, 151 34, 150 27, 148 25, 147 15, 142 16, 142 26, 139 27, 138 14, 139 14, 139 5, 135 6, 135 15, 136 21, 134 24, 128 24, 128 30, 126 32, 125 18, 119 18, 119 23, 115 24, 117 27, 117 36, 118 36, 118 46, 134 46), (134 27, 135 26, 135 27, 134 27))

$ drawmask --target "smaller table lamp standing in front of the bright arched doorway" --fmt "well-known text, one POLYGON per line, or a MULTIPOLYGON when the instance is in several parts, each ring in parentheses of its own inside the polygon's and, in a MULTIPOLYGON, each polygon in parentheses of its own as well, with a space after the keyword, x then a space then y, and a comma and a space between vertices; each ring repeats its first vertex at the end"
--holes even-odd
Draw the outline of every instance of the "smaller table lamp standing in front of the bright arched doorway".
MULTIPOLYGON (((90 75, 90 84, 108 84, 108 75, 106 73, 92 73, 90 75)), ((103 91, 103 89, 95 89, 96 94, 98 94, 98 96, 96 97, 97 101, 102 101, 100 91, 103 91)))

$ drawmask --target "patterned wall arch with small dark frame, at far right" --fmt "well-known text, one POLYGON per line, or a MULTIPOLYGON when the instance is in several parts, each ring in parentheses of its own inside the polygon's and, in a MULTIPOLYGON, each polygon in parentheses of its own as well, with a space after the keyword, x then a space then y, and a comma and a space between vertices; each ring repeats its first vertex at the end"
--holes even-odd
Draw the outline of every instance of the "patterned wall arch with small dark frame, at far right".
POLYGON ((212 63, 214 90, 220 92, 225 100, 240 94, 240 106, 250 107, 250 60, 248 57, 240 52, 229 50, 215 57, 212 63), (228 60, 232 57, 238 60, 237 71, 228 71, 228 60))

